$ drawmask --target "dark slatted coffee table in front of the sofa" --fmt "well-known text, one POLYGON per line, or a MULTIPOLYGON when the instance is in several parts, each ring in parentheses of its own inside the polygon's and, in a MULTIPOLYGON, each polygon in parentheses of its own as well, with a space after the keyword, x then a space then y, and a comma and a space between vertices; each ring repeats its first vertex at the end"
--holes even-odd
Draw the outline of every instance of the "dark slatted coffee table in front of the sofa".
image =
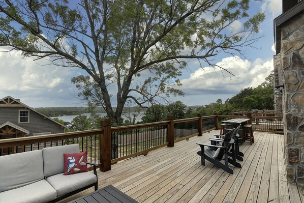
MULTIPOLYGON (((95 203, 95 202, 137 202, 117 188, 109 185, 102 189, 96 190, 88 195, 82 196, 71 201, 73 203, 95 203)), ((138 202, 137 202, 138 203, 138 202)))

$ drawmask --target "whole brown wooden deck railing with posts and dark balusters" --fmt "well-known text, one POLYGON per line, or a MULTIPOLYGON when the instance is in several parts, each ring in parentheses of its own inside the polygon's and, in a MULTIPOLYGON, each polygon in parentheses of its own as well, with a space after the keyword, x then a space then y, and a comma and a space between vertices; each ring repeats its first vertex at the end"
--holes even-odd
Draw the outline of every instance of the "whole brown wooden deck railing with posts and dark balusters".
MULTIPOLYGON (((79 143, 80 151, 87 151, 87 160, 99 164, 102 171, 111 169, 118 161, 146 155, 149 151, 164 146, 174 147, 174 142, 202 136, 204 132, 218 130, 224 120, 250 118, 254 130, 282 132, 282 117, 257 117, 250 113, 244 115, 210 115, 196 118, 111 127, 109 120, 102 120, 101 129, 42 136, 1 139, 0 149, 8 148, 12 153, 38 150, 45 147, 79 143)), ((1 156, 2 154, 0 154, 1 156)))

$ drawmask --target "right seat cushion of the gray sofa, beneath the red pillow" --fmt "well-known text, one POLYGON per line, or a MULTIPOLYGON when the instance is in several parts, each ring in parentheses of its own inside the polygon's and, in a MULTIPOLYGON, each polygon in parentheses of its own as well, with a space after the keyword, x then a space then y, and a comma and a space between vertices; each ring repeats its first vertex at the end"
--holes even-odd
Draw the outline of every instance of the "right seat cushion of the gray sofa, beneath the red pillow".
POLYGON ((64 176, 64 173, 59 173, 46 178, 46 181, 57 191, 57 196, 61 196, 96 183, 97 180, 94 173, 88 171, 69 176, 64 176))

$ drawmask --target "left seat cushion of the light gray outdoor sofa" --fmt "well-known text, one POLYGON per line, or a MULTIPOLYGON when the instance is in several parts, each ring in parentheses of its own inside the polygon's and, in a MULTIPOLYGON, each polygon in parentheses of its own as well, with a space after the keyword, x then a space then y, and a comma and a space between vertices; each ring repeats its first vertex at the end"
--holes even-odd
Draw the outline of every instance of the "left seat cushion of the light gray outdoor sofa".
MULTIPOLYGON (((13 180, 13 179, 12 179, 13 180)), ((47 202, 56 198, 56 190, 45 180, 0 192, 0 203, 47 202)))

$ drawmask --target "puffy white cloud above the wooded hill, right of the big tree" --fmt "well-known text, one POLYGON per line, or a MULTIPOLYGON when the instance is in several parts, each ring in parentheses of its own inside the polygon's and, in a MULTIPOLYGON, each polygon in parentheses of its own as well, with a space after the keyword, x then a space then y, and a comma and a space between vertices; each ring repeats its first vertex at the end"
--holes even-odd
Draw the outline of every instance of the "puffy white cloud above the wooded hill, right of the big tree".
POLYGON ((204 70, 198 69, 189 78, 181 80, 183 86, 180 89, 186 95, 235 95, 249 86, 255 88, 273 70, 272 60, 257 59, 251 63, 232 56, 224 58, 217 65, 227 69, 234 76, 220 68, 205 67, 204 70))

